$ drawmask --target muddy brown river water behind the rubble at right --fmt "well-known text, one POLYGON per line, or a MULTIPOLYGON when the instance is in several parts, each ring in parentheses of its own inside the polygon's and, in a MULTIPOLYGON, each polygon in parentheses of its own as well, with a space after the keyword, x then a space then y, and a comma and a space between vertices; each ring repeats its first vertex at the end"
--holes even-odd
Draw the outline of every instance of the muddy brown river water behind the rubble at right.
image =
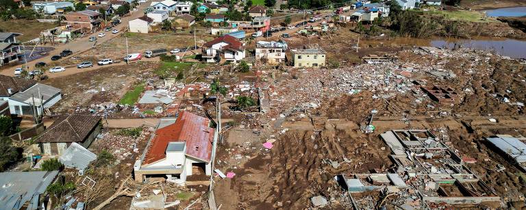
POLYGON ((447 47, 453 49, 455 44, 462 45, 462 48, 479 49, 484 51, 492 51, 499 55, 505 55, 514 58, 526 58, 526 40, 514 39, 447 39, 447 40, 431 40, 431 45, 434 47, 447 47))

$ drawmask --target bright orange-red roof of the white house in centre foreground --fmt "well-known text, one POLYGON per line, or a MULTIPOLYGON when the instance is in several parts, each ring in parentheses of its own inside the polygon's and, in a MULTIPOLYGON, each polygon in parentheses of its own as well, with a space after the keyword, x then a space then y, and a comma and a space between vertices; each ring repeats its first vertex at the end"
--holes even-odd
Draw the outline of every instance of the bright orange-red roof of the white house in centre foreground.
POLYGON ((166 158, 166 148, 170 142, 186 142, 186 155, 210 162, 214 129, 208 124, 208 118, 181 111, 175 123, 155 131, 142 163, 148 165, 166 158))

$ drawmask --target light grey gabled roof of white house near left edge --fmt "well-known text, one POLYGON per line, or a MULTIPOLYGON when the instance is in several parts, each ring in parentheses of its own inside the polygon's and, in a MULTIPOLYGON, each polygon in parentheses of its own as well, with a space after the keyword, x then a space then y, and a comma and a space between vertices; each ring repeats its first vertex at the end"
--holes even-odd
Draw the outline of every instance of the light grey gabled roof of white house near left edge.
POLYGON ((31 88, 27 88, 27 90, 22 90, 13 94, 10 99, 27 104, 34 103, 34 105, 38 106, 40 105, 40 97, 42 97, 42 101, 46 103, 57 94, 60 94, 60 89, 36 83, 34 86, 31 86, 31 88))

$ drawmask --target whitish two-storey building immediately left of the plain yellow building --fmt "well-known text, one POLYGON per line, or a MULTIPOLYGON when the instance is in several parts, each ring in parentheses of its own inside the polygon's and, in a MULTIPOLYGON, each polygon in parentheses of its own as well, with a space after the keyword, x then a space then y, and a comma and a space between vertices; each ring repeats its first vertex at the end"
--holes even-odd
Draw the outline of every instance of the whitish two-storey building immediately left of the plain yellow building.
POLYGON ((285 51, 287 43, 258 41, 255 44, 255 59, 262 60, 268 64, 279 64, 285 62, 285 51))

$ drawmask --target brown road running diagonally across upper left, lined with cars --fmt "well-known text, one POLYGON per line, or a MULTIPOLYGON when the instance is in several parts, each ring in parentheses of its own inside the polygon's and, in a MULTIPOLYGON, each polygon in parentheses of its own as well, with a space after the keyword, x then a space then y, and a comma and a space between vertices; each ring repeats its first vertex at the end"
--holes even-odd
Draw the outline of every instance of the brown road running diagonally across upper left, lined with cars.
MULTIPOLYGON (((145 8, 147 8, 150 5, 150 2, 151 1, 147 1, 147 3, 142 3, 141 5, 139 5, 139 7, 135 11, 130 12, 129 16, 124 16, 123 18, 121 18, 121 24, 116 25, 115 27, 113 27, 114 29, 118 29, 118 31, 119 31, 118 34, 112 34, 111 31, 97 31, 94 34, 90 35, 90 36, 97 36, 101 32, 106 34, 105 37, 97 38, 97 42, 95 44, 99 45, 99 44, 101 44, 103 42, 111 40, 112 38, 115 38, 116 36, 119 36, 120 34, 122 34, 123 31, 125 31, 125 29, 127 29, 127 27, 128 27, 128 21, 131 21, 131 20, 133 20, 135 18, 143 16, 144 15, 143 11, 144 11, 145 8)), ((79 38, 79 39, 75 40, 74 42, 69 42, 67 44, 60 44, 60 45, 56 46, 53 51, 50 51, 47 56, 41 57, 41 58, 36 59, 36 60, 32 60, 31 62, 27 62, 27 66, 29 67, 29 70, 32 70, 37 62, 45 62, 45 63, 51 62, 51 56, 52 55, 58 55, 58 54, 60 54, 60 52, 62 52, 65 49, 69 49, 69 50, 73 51, 73 55, 76 55, 76 54, 82 53, 82 52, 84 52, 84 51, 86 51, 88 49, 91 49, 93 47, 94 42, 89 42, 88 41, 90 36, 85 36, 83 38, 79 38)), ((72 56, 72 55, 70 55, 70 56, 72 56)), ((7 68, 7 69, 2 70, 0 73, 2 75, 14 76, 14 69, 15 68, 21 68, 21 67, 22 67, 22 65, 13 66, 11 68, 7 68)), ((49 75, 49 77, 60 77, 60 75, 67 75, 68 74, 68 70, 66 70, 66 71, 64 71, 62 73, 55 73, 55 74, 56 75, 53 75, 53 74, 48 74, 48 75, 49 75)))

